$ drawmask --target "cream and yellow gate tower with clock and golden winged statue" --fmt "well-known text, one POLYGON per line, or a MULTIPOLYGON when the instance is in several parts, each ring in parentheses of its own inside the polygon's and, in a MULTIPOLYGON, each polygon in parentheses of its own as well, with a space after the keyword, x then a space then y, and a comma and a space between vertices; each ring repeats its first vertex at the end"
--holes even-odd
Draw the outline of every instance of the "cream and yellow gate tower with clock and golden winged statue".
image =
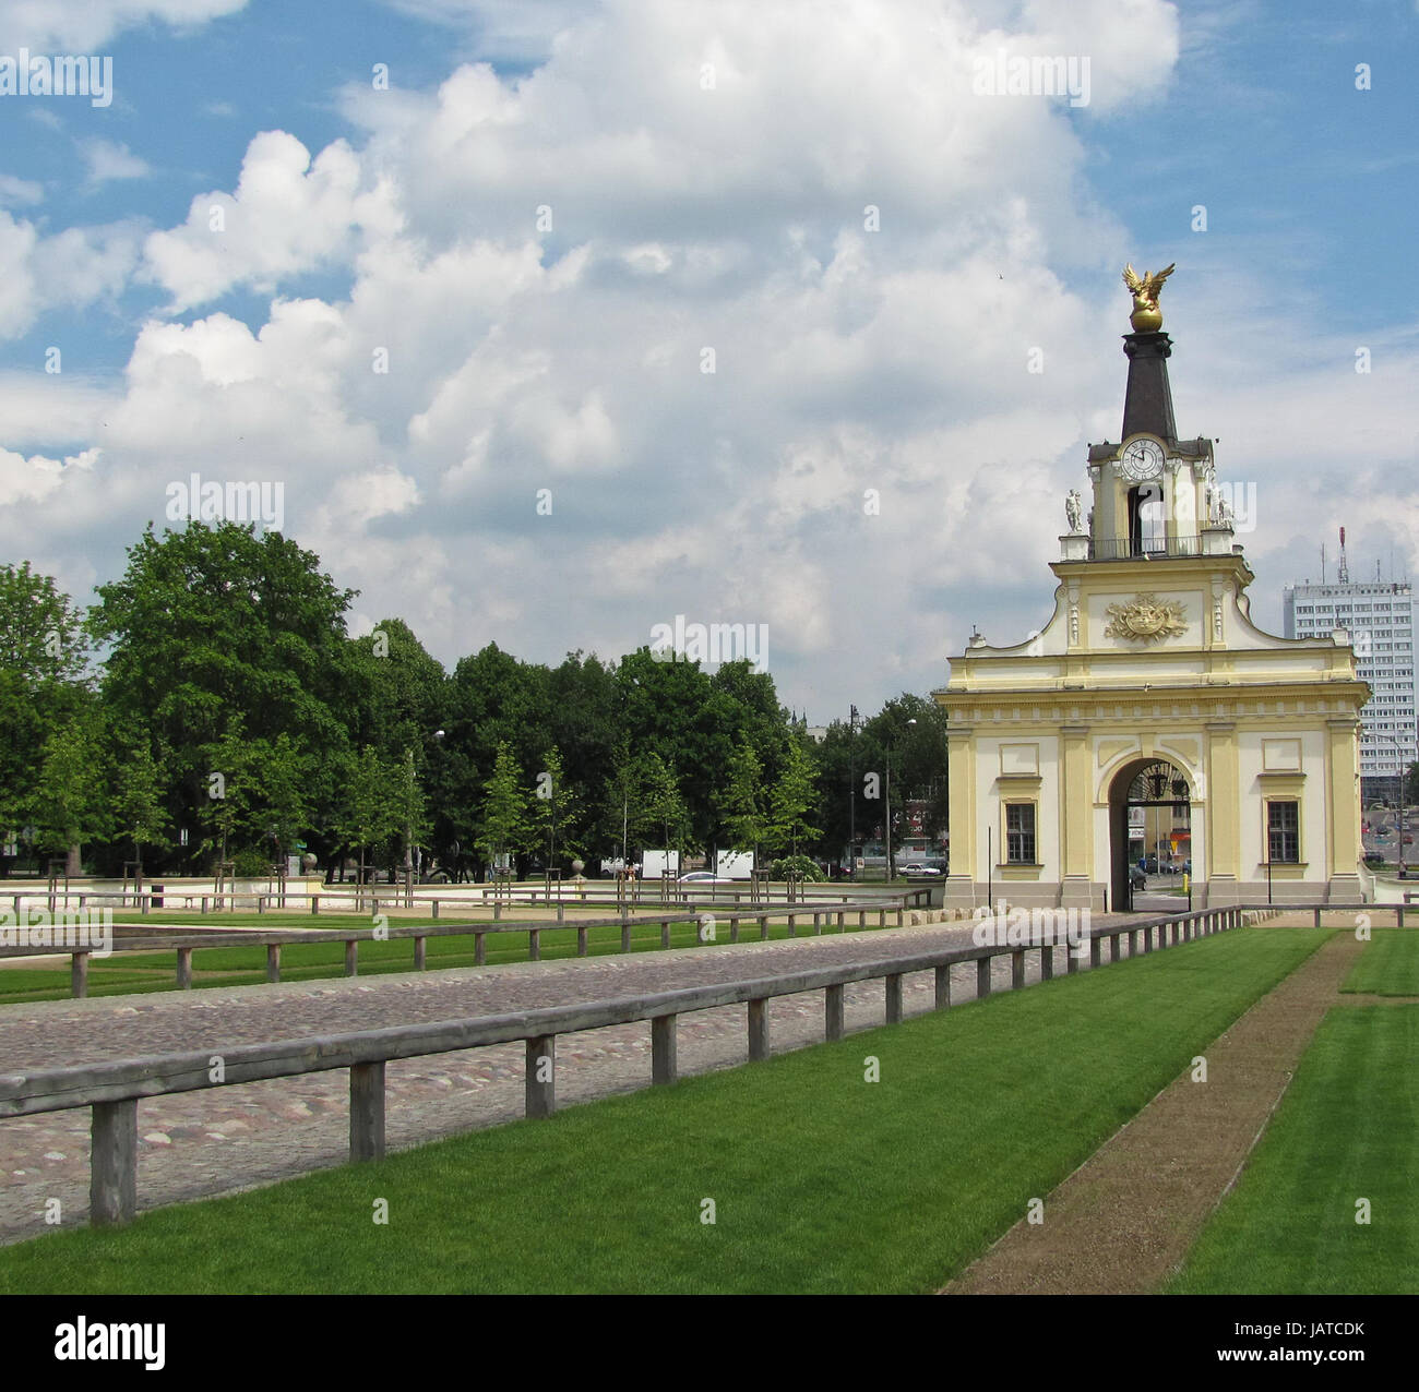
POLYGON ((1080 493, 1066 500, 1053 615, 1007 646, 972 634, 935 693, 948 906, 1121 910, 1139 875, 1152 892, 1186 876, 1195 907, 1372 892, 1358 777, 1369 687, 1345 631, 1287 639, 1252 621, 1212 441, 1179 438, 1174 420, 1158 308, 1171 272, 1124 272, 1122 430, 1088 447, 1087 522, 1080 493))

